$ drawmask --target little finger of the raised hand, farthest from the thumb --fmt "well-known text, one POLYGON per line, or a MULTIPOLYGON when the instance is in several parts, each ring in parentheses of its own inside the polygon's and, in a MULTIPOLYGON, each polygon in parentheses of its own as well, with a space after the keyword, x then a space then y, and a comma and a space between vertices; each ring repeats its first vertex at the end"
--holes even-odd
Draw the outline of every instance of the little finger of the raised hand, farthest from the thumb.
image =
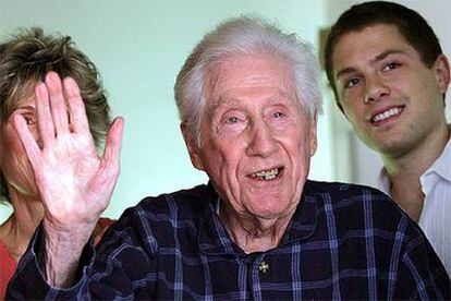
POLYGON ((26 125, 25 118, 17 113, 13 116, 13 123, 15 131, 21 139, 22 145, 25 148, 25 153, 28 157, 28 160, 34 169, 39 167, 40 159, 40 148, 37 145, 35 137, 26 125))

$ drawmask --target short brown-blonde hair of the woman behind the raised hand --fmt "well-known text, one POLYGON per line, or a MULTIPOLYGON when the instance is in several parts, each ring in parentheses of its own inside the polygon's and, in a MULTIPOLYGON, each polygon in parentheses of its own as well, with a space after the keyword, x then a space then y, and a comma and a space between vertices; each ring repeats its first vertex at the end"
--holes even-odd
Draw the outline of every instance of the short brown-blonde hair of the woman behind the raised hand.
MULTIPOLYGON (((78 84, 90 133, 99 146, 110 124, 110 108, 97 68, 71 37, 45 35, 39 27, 21 28, 17 35, 0 43, 0 127, 21 97, 33 94, 33 86, 49 71, 60 77, 71 76, 78 84)), ((10 200, 1 171, 0 198, 10 200)))

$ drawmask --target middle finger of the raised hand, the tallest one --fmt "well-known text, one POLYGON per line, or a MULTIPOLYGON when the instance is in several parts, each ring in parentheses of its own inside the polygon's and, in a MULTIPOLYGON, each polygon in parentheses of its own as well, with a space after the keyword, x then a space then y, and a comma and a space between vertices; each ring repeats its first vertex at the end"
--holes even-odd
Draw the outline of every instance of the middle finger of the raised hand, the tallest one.
POLYGON ((69 133, 68 108, 65 106, 61 79, 56 72, 46 75, 46 84, 50 94, 50 108, 57 136, 69 133))

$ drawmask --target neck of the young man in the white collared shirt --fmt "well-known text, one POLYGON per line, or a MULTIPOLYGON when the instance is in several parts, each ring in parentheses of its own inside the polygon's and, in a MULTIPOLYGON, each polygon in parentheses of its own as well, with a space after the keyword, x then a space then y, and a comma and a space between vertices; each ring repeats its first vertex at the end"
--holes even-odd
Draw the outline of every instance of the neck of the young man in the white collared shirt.
POLYGON ((444 123, 409 152, 382 156, 390 180, 390 195, 415 221, 419 220, 425 198, 419 178, 440 156, 449 139, 450 129, 444 123))

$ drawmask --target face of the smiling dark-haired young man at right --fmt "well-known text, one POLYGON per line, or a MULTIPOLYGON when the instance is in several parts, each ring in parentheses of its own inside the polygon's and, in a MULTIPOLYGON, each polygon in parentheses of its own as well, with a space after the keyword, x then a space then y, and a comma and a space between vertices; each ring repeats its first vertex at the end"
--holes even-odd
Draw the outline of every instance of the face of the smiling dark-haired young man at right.
POLYGON ((395 26, 378 24, 343 35, 332 62, 344 113, 376 152, 402 156, 446 124, 447 59, 440 56, 427 68, 395 26))

